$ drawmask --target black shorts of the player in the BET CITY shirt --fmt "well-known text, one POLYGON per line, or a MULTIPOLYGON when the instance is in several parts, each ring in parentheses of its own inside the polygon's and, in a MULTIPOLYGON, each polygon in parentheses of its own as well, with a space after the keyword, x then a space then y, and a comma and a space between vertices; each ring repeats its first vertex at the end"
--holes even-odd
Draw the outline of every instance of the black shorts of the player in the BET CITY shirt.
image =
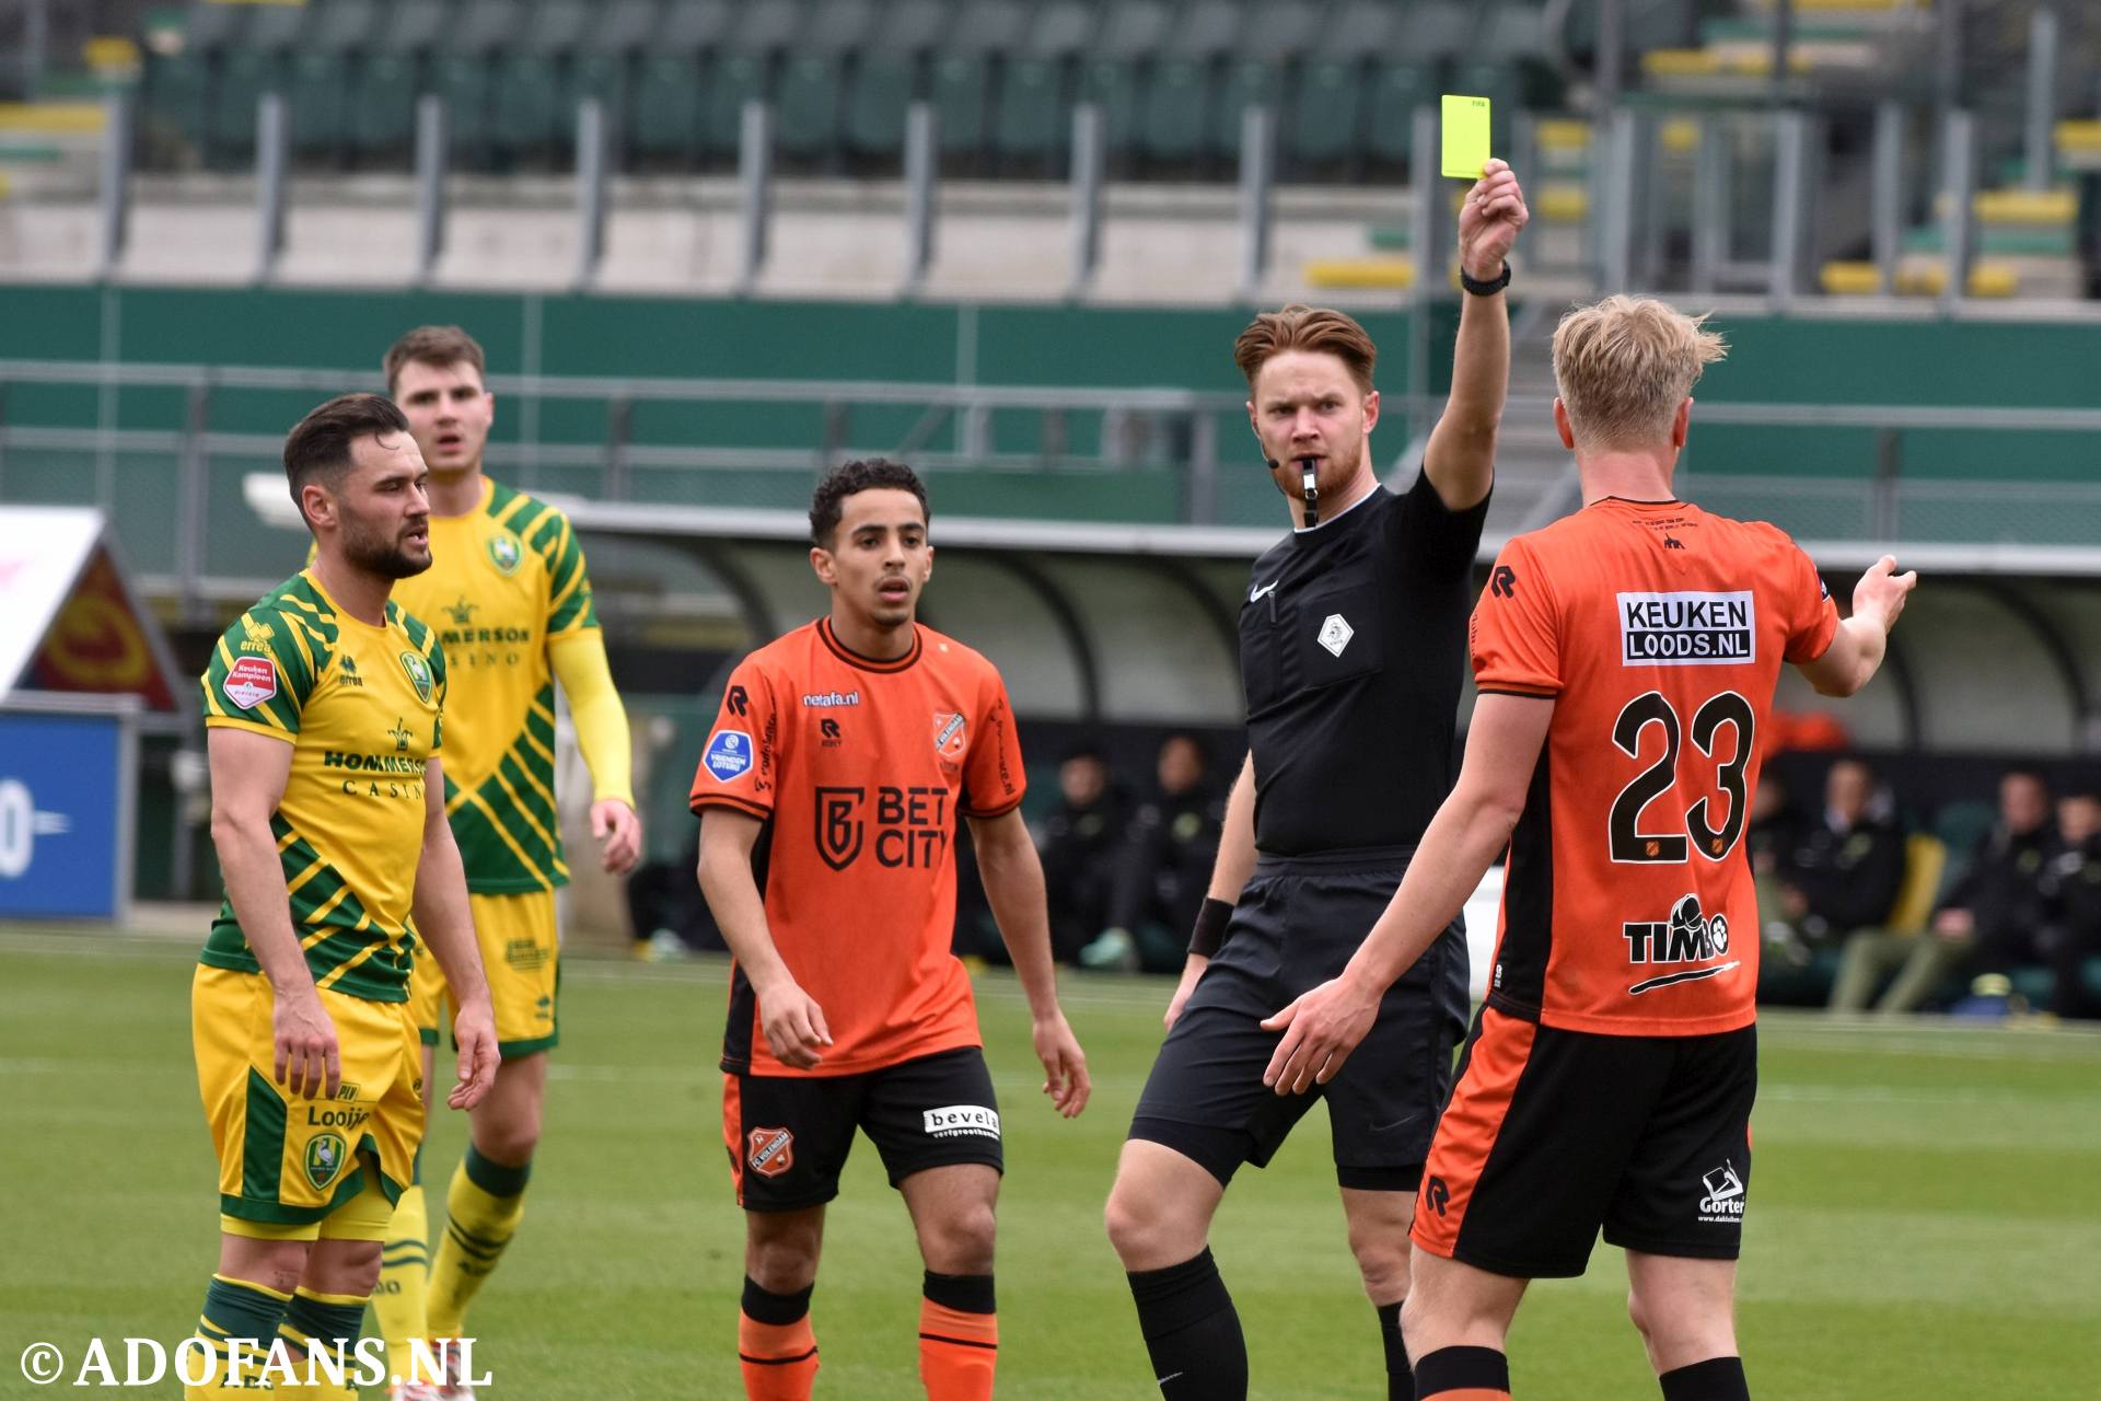
POLYGON ((941 1050, 859 1075, 723 1075, 723 1143, 737 1206, 800 1212, 838 1195, 859 1128, 897 1187, 954 1164, 1004 1170, 985 1052, 941 1050))

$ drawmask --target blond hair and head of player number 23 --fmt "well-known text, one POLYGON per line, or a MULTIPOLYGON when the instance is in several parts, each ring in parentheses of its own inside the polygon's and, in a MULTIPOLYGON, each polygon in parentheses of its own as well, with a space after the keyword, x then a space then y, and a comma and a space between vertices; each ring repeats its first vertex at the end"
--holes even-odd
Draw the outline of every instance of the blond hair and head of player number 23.
POLYGON ((1700 372, 1729 353, 1706 315, 1649 296, 1576 307, 1555 328, 1555 384, 1584 452, 1670 441, 1679 403, 1700 372))

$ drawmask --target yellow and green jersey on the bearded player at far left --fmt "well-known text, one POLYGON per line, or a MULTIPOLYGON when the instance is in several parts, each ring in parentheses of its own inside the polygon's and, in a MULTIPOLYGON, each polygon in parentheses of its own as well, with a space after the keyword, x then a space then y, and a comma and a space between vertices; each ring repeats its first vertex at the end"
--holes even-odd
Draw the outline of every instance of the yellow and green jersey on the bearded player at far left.
MULTIPOLYGON (((292 928, 319 987, 405 1002, 422 853, 422 775, 443 741, 445 653, 399 603, 374 628, 294 573, 212 647, 204 725, 292 746, 271 815, 292 928)), ((254 949, 219 909, 200 962, 256 973, 254 949)))

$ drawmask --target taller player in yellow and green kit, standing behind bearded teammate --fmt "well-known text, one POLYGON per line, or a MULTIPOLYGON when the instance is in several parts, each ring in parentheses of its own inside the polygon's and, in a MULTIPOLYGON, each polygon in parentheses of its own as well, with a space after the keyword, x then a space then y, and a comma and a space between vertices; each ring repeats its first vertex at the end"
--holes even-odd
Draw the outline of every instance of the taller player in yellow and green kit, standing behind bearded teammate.
MULTIPOLYGON (((456 326, 424 326, 395 342, 384 370, 431 466, 435 563, 403 584, 401 601, 437 630, 452 670, 445 811, 466 861, 502 1048, 496 1088, 473 1115, 445 1193, 435 1256, 427 1256, 420 1187, 395 1212, 378 1319, 389 1351, 405 1351, 416 1336, 466 1336, 466 1306, 517 1229, 540 1141, 544 1052, 559 1040, 555 891, 569 880, 555 809, 557 683, 590 769, 590 832, 605 870, 635 865, 641 821, 628 718, 576 531, 561 510, 481 471, 496 414, 481 347, 456 326)), ((433 1046, 441 991, 437 970, 418 964, 418 1025, 433 1046)), ((469 1393, 454 1384, 441 1395, 469 1393)))

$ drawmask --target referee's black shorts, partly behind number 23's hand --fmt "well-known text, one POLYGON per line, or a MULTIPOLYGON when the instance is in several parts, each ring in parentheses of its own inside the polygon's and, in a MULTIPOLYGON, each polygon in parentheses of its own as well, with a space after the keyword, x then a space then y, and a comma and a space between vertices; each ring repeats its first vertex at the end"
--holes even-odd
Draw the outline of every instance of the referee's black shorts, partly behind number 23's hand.
POLYGON ((1336 1180, 1414 1191, 1452 1048, 1466 1031, 1464 924, 1454 920, 1387 989, 1370 1036, 1326 1086, 1307 1094, 1265 1086, 1263 1069, 1282 1036, 1261 1027, 1343 970, 1406 870, 1406 849, 1263 857, 1225 943, 1160 1046, 1130 1136, 1166 1145, 1231 1183, 1244 1162, 1267 1166, 1298 1117, 1326 1099, 1336 1180))

